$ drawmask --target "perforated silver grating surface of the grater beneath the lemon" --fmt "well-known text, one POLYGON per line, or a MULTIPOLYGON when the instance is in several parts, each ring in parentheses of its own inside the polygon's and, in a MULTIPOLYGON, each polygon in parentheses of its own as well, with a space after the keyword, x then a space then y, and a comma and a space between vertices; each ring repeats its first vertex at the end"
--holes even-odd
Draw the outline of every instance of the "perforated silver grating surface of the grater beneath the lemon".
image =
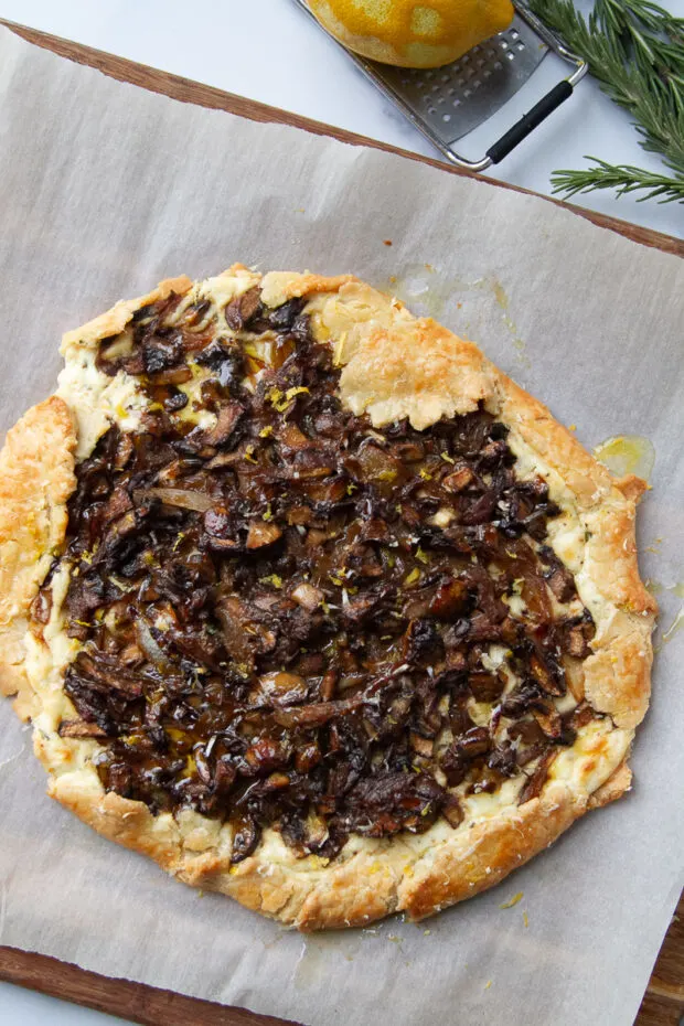
POLYGON ((392 67, 363 58, 357 63, 450 146, 507 103, 547 53, 546 43, 516 14, 504 32, 443 67, 392 67))

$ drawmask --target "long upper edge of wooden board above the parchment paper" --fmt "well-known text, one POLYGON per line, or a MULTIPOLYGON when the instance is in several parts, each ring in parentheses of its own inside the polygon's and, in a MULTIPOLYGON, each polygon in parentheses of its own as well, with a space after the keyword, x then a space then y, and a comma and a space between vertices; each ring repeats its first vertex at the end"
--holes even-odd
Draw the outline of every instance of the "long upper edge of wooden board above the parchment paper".
POLYGON ((584 206, 577 206, 574 203, 566 203, 554 196, 545 196, 531 189, 523 189, 521 185, 512 185, 509 182, 500 182, 496 179, 487 178, 487 175, 478 175, 462 168, 456 168, 445 161, 431 157, 424 157, 420 153, 413 153, 409 150, 391 146, 387 142, 381 142, 378 139, 371 139, 367 136, 346 131, 346 129, 336 128, 333 125, 325 125, 323 121, 316 121, 298 114, 281 110, 279 107, 270 107, 267 104, 247 99, 234 93, 225 93, 223 89, 217 89, 214 86, 204 85, 191 78, 183 78, 180 75, 172 75, 170 72, 149 67, 146 64, 139 64, 135 61, 129 61, 127 57, 119 57, 101 50, 95 50, 92 46, 84 46, 71 40, 51 35, 47 32, 41 32, 38 29, 30 29, 26 25, 20 25, 2 18, 0 18, 0 24, 10 29, 28 42, 34 43, 36 46, 50 50, 58 56, 74 61, 76 64, 94 67, 108 77, 116 78, 118 82, 126 82, 131 85, 140 86, 152 93, 159 93, 163 96, 169 96, 171 99, 181 100, 182 103, 191 103, 214 110, 227 110, 231 114, 236 114, 239 117, 248 118, 253 121, 290 125, 293 128, 300 128, 318 136, 329 136, 341 142, 349 142, 352 146, 366 146, 372 149, 384 150, 387 153, 395 153, 408 160, 416 160, 420 163, 429 164, 432 168, 439 168, 441 171, 447 171, 450 174, 459 174, 466 178, 480 178, 500 189, 510 189, 513 192, 520 192, 524 195, 545 200, 547 203, 553 203, 555 206, 562 206, 564 210, 570 211, 599 227, 617 232, 619 235, 630 238, 632 242, 640 243, 643 246, 650 246, 655 249, 661 249, 663 253, 684 257, 684 239, 675 238, 672 235, 664 235, 661 232, 641 227, 629 221, 621 221, 619 217, 599 214, 597 211, 590 211, 584 206))

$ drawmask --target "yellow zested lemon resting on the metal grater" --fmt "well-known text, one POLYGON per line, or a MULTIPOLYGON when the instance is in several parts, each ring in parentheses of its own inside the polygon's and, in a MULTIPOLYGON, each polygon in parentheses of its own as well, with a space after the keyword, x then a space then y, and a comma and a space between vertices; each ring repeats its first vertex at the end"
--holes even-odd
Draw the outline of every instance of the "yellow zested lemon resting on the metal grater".
POLYGON ((506 29, 511 0, 309 0, 320 23, 356 53, 402 67, 439 67, 506 29))

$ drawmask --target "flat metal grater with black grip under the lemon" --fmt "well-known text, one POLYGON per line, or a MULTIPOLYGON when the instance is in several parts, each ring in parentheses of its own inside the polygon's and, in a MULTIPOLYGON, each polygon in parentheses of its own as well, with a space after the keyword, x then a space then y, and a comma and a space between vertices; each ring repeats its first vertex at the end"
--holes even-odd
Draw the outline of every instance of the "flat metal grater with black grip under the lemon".
MULTIPOLYGON (((306 0, 296 2, 313 18, 306 0)), ((570 53, 521 3, 516 3, 516 13, 509 29, 473 46, 458 61, 443 67, 393 67, 368 61, 349 50, 345 52, 447 160, 471 171, 483 171, 490 164, 503 160, 573 95, 574 87, 587 73, 586 61, 570 53), (549 50, 575 66, 573 74, 554 86, 489 148, 483 158, 468 160, 459 156, 453 149, 455 142, 487 121, 515 96, 549 50)))

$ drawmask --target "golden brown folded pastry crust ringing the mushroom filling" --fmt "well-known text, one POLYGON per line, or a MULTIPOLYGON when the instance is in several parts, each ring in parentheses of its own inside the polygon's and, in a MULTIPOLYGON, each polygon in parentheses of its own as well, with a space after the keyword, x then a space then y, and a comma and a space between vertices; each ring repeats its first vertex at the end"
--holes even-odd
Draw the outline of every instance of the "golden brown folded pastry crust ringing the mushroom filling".
MULTIPOLYGON (((367 413, 375 426, 408 417, 421 429, 481 402, 509 426, 521 468, 542 473, 562 507, 551 544, 571 568, 597 628, 583 667, 584 692, 610 719, 579 731, 575 746, 554 762, 538 798, 519 806, 502 793, 499 802, 469 809, 456 830, 439 821, 419 836, 352 837, 331 863, 297 858, 277 832, 267 830, 255 854, 231 867, 229 825, 190 810, 154 816, 140 802, 105 793, 90 761, 97 742, 57 733, 63 714, 73 715, 60 686, 70 650, 56 644, 63 641, 58 603, 42 638, 26 631, 29 606, 66 531, 78 440, 72 415, 82 440, 93 424, 93 430, 104 429, 107 418, 97 419, 101 383, 99 391, 88 385, 86 414, 70 409, 68 388, 62 389, 66 402, 53 396, 34 407, 9 432, 0 455, 0 686, 6 694, 19 693, 18 712, 34 719, 49 793, 104 836, 149 855, 185 883, 222 891, 301 930, 360 926, 399 910, 419 919, 498 883, 587 809, 628 790, 626 758, 649 702, 656 611, 639 577, 634 542, 643 482, 616 481, 473 343, 430 319, 414 318, 397 300, 351 276, 281 272, 261 279, 235 265, 211 280, 224 301, 259 282, 268 306, 308 297, 314 333, 334 344, 343 367, 343 403, 367 413)), ((191 288, 186 278, 171 279, 70 332, 63 342, 67 364, 99 339, 122 331, 140 307, 191 288)))

